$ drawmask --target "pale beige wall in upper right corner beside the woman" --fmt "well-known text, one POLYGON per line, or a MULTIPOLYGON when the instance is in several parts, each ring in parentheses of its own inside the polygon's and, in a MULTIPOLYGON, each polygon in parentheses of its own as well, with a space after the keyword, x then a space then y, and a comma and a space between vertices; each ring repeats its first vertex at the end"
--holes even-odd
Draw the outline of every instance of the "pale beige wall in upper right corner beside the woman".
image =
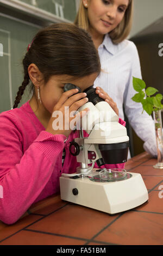
POLYGON ((130 37, 163 16, 163 0, 134 0, 134 20, 130 37))

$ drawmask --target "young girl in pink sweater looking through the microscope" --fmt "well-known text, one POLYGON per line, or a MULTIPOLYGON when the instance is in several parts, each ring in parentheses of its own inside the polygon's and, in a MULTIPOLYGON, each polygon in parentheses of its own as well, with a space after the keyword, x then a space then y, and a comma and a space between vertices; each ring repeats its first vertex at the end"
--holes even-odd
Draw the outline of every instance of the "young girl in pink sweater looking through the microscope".
MULTIPOLYGON (((90 36, 66 23, 54 24, 36 34, 28 46, 23 67, 24 81, 14 109, 0 115, 0 219, 7 224, 16 222, 33 203, 58 193, 62 172, 76 172, 78 163, 70 154, 69 145, 78 132, 54 130, 53 112, 61 111, 64 117, 65 106, 71 112, 84 105, 87 98, 83 91, 93 84, 101 70, 90 36), (30 81, 33 96, 17 108, 30 81), (77 93, 77 89, 64 92, 66 83, 77 85, 82 93, 77 93), (62 165, 64 148, 66 157, 62 165)), ((117 111, 107 93, 100 89, 97 93, 117 111)), ((122 120, 120 123, 124 125, 122 120)))

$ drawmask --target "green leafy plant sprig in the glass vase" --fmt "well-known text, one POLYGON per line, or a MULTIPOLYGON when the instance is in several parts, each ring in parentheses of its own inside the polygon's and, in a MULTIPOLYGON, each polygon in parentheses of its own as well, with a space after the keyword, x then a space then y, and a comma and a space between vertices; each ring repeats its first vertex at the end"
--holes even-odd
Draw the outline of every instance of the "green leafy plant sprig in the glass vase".
POLYGON ((155 96, 153 96, 156 92, 158 92, 156 88, 146 88, 145 81, 139 78, 134 78, 134 76, 133 87, 137 93, 131 99, 134 100, 134 102, 141 103, 143 111, 145 110, 148 113, 148 115, 151 115, 153 111, 163 109, 163 105, 161 104, 161 100, 163 98, 162 94, 158 93, 155 96))

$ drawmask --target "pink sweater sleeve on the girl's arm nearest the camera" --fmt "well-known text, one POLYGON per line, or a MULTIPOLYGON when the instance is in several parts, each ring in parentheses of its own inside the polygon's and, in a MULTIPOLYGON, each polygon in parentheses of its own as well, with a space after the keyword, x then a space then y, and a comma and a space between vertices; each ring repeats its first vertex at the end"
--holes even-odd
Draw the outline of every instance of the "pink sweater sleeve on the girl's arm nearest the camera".
MULTIPOLYGON (((13 123, 12 115, 9 116, 10 113, 5 115, 5 112, 0 115, 0 185, 3 187, 0 219, 12 224, 36 199, 57 192, 59 173, 54 166, 61 161, 66 136, 41 131, 23 152, 26 133, 23 134, 17 123, 13 123)), ((33 130, 26 136, 34 138, 33 130)))

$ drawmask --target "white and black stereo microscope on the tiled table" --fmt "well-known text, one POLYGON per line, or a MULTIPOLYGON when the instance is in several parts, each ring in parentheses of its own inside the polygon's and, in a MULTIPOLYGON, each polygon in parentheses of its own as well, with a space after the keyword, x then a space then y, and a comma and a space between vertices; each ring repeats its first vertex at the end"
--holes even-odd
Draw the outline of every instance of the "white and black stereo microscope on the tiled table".
MULTIPOLYGON (((66 84, 65 91, 80 88, 66 84)), ((70 144, 70 152, 80 166, 74 174, 60 177, 61 199, 109 214, 127 211, 148 200, 148 192, 138 173, 125 169, 106 169, 107 164, 127 161, 129 137, 126 127, 110 105, 96 94, 93 86, 87 88, 89 102, 78 111, 89 108, 78 127, 78 138, 70 144), (83 130, 89 136, 83 136, 83 130), (95 163, 98 168, 93 169, 95 163)))

